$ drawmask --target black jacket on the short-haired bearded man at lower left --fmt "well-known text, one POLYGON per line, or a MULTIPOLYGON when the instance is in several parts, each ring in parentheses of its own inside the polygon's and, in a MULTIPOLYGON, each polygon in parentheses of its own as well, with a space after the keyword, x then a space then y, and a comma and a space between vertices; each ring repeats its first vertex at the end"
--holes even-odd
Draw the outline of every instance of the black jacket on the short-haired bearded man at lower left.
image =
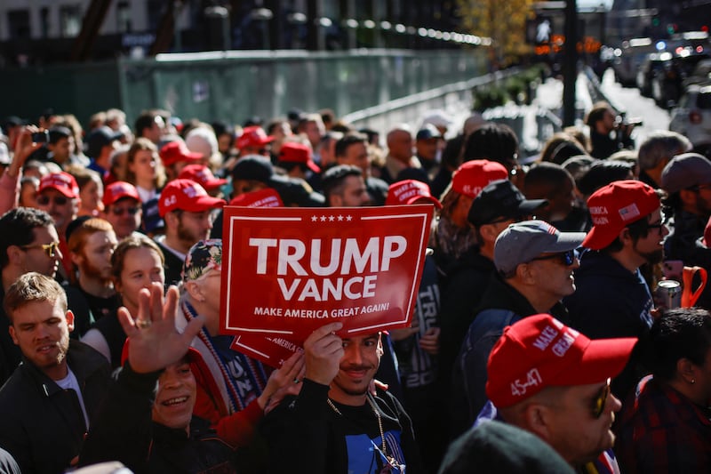
MULTIPOLYGON (((69 341, 68 366, 82 389, 90 424, 108 392, 110 368, 99 352, 69 341)), ((22 472, 64 472, 79 454, 86 424, 74 390, 62 390, 28 360, 0 389, 0 446, 22 472)))

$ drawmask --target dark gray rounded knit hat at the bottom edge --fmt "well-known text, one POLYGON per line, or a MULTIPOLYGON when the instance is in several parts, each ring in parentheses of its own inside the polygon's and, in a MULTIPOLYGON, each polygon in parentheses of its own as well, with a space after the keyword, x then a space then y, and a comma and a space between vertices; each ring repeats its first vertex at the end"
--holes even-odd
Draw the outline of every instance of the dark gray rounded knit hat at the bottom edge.
POLYGON ((490 421, 468 430, 449 447, 439 474, 572 474, 571 465, 528 431, 490 421))

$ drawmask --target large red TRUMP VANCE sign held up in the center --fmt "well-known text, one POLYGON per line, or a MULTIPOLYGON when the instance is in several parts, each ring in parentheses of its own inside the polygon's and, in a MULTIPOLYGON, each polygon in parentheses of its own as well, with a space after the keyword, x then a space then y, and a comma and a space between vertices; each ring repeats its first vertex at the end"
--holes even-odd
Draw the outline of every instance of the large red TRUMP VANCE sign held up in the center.
POLYGON ((432 205, 224 207, 220 330, 304 341, 410 325, 432 205))

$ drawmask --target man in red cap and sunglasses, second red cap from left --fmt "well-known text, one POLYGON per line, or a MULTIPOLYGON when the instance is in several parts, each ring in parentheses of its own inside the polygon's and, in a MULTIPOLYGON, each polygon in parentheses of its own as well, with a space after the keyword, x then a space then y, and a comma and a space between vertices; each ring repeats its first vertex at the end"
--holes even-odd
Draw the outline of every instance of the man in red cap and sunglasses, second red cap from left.
POLYGON ((138 232, 143 212, 135 186, 126 181, 112 182, 104 189, 103 203, 104 219, 114 228, 118 240, 138 232))

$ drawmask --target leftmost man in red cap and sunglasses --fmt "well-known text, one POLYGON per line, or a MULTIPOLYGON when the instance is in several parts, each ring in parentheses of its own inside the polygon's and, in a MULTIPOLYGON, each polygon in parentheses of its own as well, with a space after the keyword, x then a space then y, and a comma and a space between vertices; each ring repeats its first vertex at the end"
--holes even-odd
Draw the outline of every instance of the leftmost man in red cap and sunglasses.
POLYGON ((67 280, 72 271, 72 261, 67 247, 67 226, 76 219, 81 205, 79 186, 69 173, 49 173, 39 182, 37 206, 52 216, 54 228, 60 236, 60 276, 67 280))

